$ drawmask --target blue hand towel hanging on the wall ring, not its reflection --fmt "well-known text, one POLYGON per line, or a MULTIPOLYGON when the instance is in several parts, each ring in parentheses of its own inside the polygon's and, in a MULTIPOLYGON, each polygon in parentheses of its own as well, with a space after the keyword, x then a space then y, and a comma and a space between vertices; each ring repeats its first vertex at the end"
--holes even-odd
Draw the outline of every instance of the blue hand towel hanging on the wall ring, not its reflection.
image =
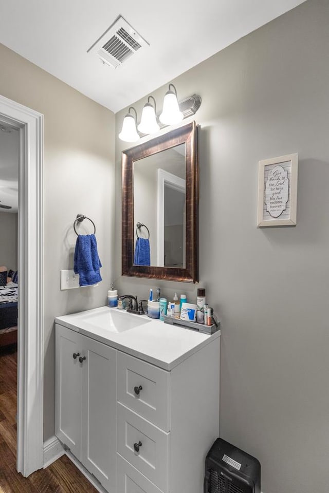
POLYGON ((95 235, 78 235, 74 252, 74 272, 79 274, 80 286, 92 286, 101 281, 102 267, 95 235))

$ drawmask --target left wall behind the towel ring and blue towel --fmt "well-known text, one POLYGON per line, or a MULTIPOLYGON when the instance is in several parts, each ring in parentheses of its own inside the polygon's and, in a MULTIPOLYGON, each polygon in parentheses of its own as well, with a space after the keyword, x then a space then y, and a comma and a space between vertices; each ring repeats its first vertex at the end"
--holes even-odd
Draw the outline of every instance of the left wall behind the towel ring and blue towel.
MULTIPOLYGON (((0 94, 44 114, 44 440, 54 433, 54 317, 105 305, 114 266, 114 128, 111 111, 0 44, 0 94), (22 76, 23 75, 23 76, 22 76), (73 268, 78 213, 97 227, 103 282, 60 291, 73 268)), ((85 221, 87 222, 87 221, 85 221)), ((90 227, 85 224, 85 232, 90 227)), ((81 229, 82 231, 83 229, 81 229)))

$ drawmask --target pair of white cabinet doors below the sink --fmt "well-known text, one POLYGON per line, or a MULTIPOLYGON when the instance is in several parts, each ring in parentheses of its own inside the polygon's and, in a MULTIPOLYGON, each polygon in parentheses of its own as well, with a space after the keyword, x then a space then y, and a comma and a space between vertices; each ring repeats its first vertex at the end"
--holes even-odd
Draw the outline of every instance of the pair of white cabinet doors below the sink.
POLYGON ((117 351, 56 325, 58 439, 108 491, 116 485, 117 351))

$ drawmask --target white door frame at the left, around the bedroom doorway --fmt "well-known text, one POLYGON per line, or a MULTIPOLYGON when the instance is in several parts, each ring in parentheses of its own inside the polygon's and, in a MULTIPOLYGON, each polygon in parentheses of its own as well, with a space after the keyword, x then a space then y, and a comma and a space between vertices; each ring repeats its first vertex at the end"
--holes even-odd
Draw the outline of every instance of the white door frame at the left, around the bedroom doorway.
POLYGON ((43 115, 0 96, 19 128, 17 471, 43 467, 43 115))

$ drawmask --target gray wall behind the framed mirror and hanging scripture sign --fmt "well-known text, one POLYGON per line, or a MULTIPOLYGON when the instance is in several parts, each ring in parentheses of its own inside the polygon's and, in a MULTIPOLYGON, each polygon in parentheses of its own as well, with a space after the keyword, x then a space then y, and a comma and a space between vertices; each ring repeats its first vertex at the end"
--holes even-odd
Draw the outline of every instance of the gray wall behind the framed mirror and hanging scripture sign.
MULTIPOLYGON (((221 436, 259 458, 265 493, 328 489, 328 26, 329 2, 308 0, 173 81, 202 96, 199 286, 222 319, 221 436), (297 226, 257 229, 258 161, 295 152, 297 226)), ((116 200, 119 293, 145 298, 155 280, 121 277, 116 200)))

